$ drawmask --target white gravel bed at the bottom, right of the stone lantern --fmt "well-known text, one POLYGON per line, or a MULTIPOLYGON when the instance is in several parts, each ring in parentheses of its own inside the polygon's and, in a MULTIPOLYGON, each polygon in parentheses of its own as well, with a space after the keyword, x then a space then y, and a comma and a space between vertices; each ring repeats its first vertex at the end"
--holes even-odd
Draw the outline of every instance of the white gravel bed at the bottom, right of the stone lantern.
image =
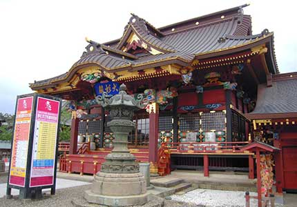
MULTIPOLYGON (((256 196, 256 193, 251 192, 250 195, 256 196)), ((228 191, 228 190, 208 190, 196 189, 184 195, 172 195, 171 198, 175 201, 183 201, 192 203, 198 206, 209 207, 244 207, 245 192, 243 191, 228 191)), ((258 206, 257 199, 250 200, 251 207, 258 206)), ((282 205, 276 205, 282 206, 282 205)))

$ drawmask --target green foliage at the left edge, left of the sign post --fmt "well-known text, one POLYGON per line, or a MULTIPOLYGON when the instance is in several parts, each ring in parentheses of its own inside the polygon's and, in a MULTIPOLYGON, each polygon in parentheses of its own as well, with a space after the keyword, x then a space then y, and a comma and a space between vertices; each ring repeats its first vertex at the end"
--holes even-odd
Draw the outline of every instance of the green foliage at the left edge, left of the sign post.
POLYGON ((0 120, 3 121, 0 126, 0 140, 10 141, 12 139, 12 130, 15 116, 0 112, 0 120))

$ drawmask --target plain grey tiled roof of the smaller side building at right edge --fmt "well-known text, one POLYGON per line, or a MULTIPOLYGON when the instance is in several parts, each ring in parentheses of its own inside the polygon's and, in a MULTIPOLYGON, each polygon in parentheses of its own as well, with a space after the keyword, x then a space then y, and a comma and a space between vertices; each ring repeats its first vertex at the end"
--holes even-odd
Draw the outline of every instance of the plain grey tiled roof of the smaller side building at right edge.
POLYGON ((249 114, 291 112, 297 112, 297 79, 275 81, 271 87, 259 85, 256 108, 249 114))

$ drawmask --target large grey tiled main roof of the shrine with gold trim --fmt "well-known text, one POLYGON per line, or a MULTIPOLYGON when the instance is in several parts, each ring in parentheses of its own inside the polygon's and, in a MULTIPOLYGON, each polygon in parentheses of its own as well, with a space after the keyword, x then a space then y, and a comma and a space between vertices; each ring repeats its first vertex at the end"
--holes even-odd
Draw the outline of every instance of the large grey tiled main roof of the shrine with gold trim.
POLYGON ((246 46, 261 39, 267 38, 267 41, 269 41, 269 37, 273 33, 268 31, 258 35, 250 35, 251 17, 243 14, 242 7, 244 6, 183 21, 180 26, 178 26, 179 24, 173 24, 172 26, 175 26, 176 30, 175 28, 169 30, 169 26, 156 29, 144 19, 133 14, 121 39, 109 42, 111 45, 96 43, 96 50, 92 51, 88 50, 88 48, 91 45, 94 46, 95 42, 90 42, 86 47, 87 52, 84 52, 81 59, 70 68, 68 73, 52 79, 31 83, 30 87, 36 88, 66 79, 72 70, 86 64, 95 64, 108 72, 140 66, 149 67, 151 63, 173 59, 178 59, 186 65, 200 55, 246 46), (222 15, 225 13, 226 16, 222 15), (191 23, 191 26, 189 26, 189 23, 191 23), (155 48, 155 50, 161 51, 162 54, 152 55, 147 53, 141 57, 135 57, 123 52, 120 49, 128 39, 129 32, 134 32, 144 43, 155 48))

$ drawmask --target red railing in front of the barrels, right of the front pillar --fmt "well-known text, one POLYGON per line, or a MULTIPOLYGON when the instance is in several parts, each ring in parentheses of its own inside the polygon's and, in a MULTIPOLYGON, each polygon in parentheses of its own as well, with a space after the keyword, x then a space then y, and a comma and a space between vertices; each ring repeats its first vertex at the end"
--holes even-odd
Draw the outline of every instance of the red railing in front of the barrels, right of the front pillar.
POLYGON ((224 141, 224 142, 168 142, 166 146, 171 152, 213 152, 213 153, 240 153, 242 146, 248 141, 224 141))

